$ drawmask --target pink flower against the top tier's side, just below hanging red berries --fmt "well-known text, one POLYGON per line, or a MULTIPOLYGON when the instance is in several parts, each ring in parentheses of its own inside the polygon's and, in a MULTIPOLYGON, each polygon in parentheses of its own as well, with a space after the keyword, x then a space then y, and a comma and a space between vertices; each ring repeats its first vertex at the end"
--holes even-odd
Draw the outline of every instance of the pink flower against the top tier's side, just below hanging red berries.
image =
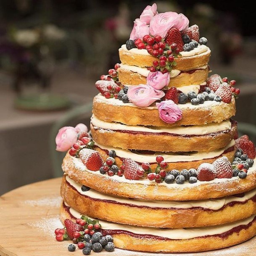
POLYGON ((160 71, 149 72, 147 77, 147 84, 154 87, 157 90, 163 89, 170 82, 169 72, 163 74, 160 71))

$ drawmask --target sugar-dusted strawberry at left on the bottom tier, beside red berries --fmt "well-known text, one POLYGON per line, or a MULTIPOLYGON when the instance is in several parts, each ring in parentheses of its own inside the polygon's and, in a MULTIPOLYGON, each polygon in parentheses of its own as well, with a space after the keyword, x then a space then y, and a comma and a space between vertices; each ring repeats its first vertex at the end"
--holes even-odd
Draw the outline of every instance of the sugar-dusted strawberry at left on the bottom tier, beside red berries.
POLYGON ((86 168, 91 171, 98 171, 100 167, 104 164, 100 153, 89 148, 81 149, 79 152, 79 156, 86 168))

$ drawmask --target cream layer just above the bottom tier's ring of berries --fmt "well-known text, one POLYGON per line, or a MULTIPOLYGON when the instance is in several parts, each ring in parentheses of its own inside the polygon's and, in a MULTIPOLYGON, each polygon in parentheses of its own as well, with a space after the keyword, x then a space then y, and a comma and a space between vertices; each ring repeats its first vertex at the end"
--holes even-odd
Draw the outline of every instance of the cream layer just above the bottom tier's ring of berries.
POLYGON ((222 155, 226 149, 234 146, 235 140, 232 140, 225 148, 220 148, 210 152, 187 152, 186 154, 178 154, 173 152, 168 152, 168 153, 156 152, 153 155, 147 155, 147 154, 140 154, 139 152, 133 153, 130 150, 124 150, 121 148, 108 147, 105 145, 100 145, 98 143, 95 143, 95 145, 99 146, 102 149, 106 149, 108 151, 114 149, 116 151, 116 156, 119 156, 121 158, 132 158, 132 160, 138 163, 143 163, 143 162, 155 163, 156 156, 158 155, 163 156, 164 160, 168 163, 177 163, 177 162, 199 161, 203 159, 218 157, 222 155))

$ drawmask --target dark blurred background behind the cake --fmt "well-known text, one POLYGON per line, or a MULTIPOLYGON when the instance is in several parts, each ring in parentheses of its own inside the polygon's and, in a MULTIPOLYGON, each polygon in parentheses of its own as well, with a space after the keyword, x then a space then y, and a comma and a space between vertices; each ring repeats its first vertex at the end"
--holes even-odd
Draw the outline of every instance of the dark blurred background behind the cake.
POLYGON ((118 48, 129 39, 133 21, 154 2, 158 12, 182 12, 190 25, 198 24, 212 50, 210 69, 241 89, 236 120, 256 124, 256 13, 249 5, 0 1, 0 194, 60 173, 56 129, 89 125, 95 80, 119 62, 118 48))

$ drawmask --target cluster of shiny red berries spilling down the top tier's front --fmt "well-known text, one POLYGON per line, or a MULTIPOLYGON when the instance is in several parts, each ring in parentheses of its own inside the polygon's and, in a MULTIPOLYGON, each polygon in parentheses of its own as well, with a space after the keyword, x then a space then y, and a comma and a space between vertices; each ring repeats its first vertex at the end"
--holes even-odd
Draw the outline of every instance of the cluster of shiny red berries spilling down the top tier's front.
POLYGON ((153 61, 153 66, 148 68, 150 72, 161 71, 164 74, 176 65, 174 58, 179 55, 177 44, 168 45, 161 36, 145 35, 143 40, 135 40, 135 46, 138 49, 148 50, 149 54, 160 59, 160 61, 153 61))

